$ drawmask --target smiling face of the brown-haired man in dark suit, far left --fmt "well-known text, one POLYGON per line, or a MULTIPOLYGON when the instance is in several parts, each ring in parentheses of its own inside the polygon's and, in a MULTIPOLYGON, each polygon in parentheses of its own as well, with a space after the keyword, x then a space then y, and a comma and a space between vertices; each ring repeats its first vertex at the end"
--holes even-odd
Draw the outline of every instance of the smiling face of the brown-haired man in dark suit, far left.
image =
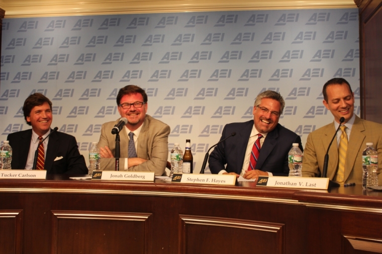
POLYGON ((50 130, 52 119, 52 109, 50 109, 48 102, 33 107, 29 116, 27 116, 27 121, 31 123, 32 130, 38 136, 43 136, 50 130))

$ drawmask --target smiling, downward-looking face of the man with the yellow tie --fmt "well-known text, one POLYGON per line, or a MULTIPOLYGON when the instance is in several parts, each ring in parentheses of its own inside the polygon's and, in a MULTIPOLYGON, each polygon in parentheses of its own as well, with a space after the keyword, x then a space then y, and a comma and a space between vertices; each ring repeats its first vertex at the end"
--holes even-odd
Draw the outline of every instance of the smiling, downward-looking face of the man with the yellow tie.
POLYGON ((323 103, 327 109, 333 114, 336 122, 340 122, 340 118, 344 117, 347 122, 354 112, 354 93, 352 93, 347 84, 334 84, 326 87, 328 101, 323 103))

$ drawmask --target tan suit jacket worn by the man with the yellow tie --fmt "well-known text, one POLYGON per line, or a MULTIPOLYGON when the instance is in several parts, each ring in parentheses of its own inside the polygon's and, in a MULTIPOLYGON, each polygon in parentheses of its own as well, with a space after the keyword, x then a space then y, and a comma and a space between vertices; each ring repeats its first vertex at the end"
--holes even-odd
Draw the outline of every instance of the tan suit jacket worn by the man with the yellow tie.
MULTIPOLYGON (((312 132, 304 149, 303 177, 321 177, 326 149, 335 133, 334 122, 312 132)), ((382 124, 366 121, 355 116, 346 152, 345 183, 362 184, 362 152, 366 143, 372 142, 378 153, 378 174, 382 171, 382 124)), ((338 168, 336 139, 329 150, 327 177, 333 180, 338 168)), ((378 175, 379 185, 382 174, 378 175)))

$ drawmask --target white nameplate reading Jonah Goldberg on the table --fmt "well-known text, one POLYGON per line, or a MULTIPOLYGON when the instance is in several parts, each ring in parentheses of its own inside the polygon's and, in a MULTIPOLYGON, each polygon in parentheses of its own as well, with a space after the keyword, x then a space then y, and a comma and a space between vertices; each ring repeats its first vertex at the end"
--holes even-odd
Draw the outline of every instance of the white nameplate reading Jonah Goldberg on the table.
POLYGON ((91 180, 154 182, 154 172, 94 171, 91 180))

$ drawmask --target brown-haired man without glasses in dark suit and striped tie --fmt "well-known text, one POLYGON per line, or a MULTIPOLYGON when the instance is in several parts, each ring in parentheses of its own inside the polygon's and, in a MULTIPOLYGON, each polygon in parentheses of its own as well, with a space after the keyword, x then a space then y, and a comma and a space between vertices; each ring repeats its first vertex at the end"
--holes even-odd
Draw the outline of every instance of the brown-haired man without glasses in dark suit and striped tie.
MULTIPOLYGON (((32 169, 39 137, 44 139, 52 132, 52 102, 43 94, 31 94, 24 102, 23 111, 32 129, 8 135, 13 152, 12 169, 32 169)), ((53 132, 42 145, 44 160, 38 162, 38 169, 45 169, 47 174, 87 174, 85 159, 79 154, 73 136, 53 132)))

